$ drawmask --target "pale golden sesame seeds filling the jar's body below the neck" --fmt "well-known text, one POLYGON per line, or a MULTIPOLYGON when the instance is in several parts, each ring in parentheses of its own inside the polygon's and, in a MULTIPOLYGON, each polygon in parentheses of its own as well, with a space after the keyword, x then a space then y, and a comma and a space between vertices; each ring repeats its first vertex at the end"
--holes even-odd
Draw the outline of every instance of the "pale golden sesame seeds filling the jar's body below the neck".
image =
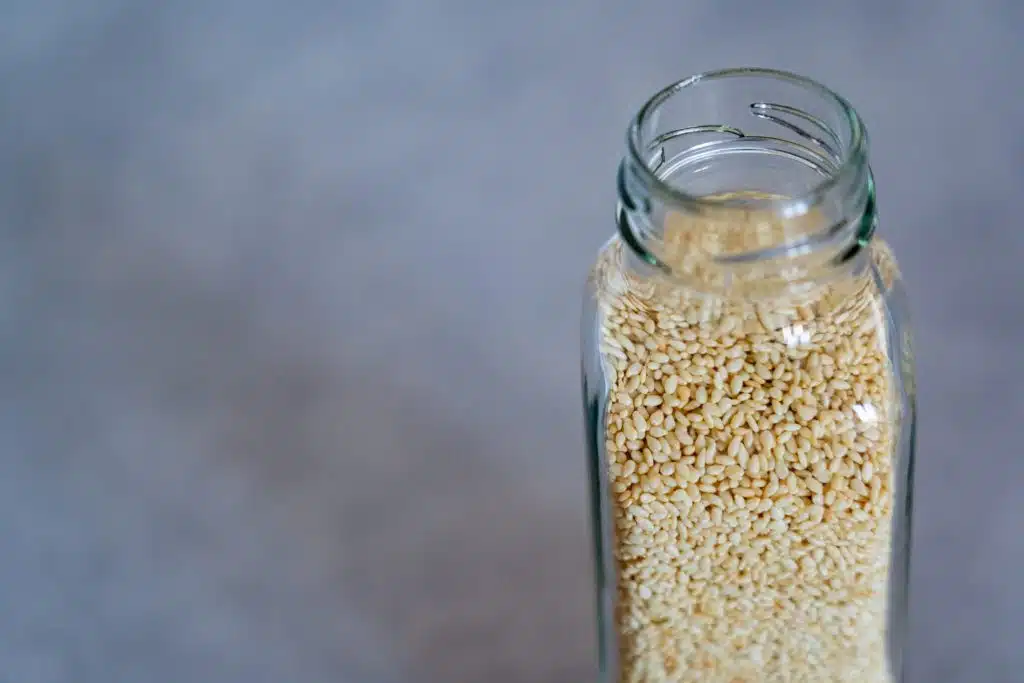
POLYGON ((595 270, 620 681, 890 683, 896 426, 876 282, 755 305, 631 278, 622 258, 613 242, 595 270))

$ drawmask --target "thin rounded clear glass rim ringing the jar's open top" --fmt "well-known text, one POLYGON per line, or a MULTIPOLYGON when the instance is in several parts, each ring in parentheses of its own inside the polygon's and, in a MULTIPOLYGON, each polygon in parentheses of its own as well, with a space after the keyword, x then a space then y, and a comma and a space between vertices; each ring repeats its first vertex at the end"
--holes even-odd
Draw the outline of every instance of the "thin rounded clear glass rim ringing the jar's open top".
POLYGON ((863 121, 860 119, 860 115, 857 114, 857 111, 852 104, 850 104, 849 101, 846 100, 845 97, 835 92, 827 86, 822 85, 818 81, 793 72, 760 67, 720 69, 689 76, 666 86, 647 99, 647 101, 644 102, 643 106, 640 108, 640 111, 637 112, 636 116, 630 122, 626 137, 628 155, 631 162, 630 165, 633 167, 632 171, 639 174, 639 179, 647 186, 647 189, 656 195, 658 199, 667 201, 670 204, 692 210, 699 210, 712 203, 712 201, 707 198, 691 195, 673 186, 650 167, 643 154, 644 126, 648 121, 650 121, 662 104, 681 90, 701 82, 736 77, 753 77, 785 81, 817 92, 824 99, 829 100, 836 105, 837 110, 839 110, 843 119, 849 126, 848 130, 845 131, 849 136, 849 143, 845 145, 844 150, 841 151, 842 154, 838 159, 835 172, 822 178, 818 183, 816 183, 809 190, 803 193, 801 196, 774 200, 771 202, 772 204, 777 204, 780 209, 785 207, 790 209, 790 211, 792 211, 794 207, 802 207, 803 210, 798 209, 797 213, 803 213, 809 207, 820 202, 834 187, 845 182, 850 176, 861 172, 861 167, 865 163, 867 156, 867 132, 863 121))

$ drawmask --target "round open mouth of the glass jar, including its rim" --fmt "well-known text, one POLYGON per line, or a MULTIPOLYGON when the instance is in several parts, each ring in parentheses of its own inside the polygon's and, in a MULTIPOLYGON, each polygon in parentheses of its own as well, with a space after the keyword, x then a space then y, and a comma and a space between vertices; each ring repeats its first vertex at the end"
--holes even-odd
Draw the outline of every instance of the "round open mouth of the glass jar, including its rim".
POLYGON ((765 208, 788 215, 857 175, 867 146, 843 97, 796 74, 753 68, 663 89, 640 109, 627 142, 631 165, 664 201, 701 206, 710 196, 758 193, 765 208))

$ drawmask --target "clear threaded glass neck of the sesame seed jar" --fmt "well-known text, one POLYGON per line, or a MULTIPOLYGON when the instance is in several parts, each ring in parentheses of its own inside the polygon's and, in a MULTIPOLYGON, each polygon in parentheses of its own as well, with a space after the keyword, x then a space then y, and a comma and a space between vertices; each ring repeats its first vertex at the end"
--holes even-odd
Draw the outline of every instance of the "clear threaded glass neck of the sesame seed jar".
POLYGON ((630 128, 618 229, 635 262, 710 294, 799 291, 863 263, 866 138, 838 95, 764 70, 662 91, 630 128))

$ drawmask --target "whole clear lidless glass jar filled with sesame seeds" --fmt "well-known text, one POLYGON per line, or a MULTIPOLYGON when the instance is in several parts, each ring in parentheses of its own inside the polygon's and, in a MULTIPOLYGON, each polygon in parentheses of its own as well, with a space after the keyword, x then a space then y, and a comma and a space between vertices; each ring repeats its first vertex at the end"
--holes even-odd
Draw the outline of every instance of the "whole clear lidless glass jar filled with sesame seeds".
POLYGON ((901 681, 912 357, 860 118, 739 69, 627 141, 583 325, 601 681, 901 681))

